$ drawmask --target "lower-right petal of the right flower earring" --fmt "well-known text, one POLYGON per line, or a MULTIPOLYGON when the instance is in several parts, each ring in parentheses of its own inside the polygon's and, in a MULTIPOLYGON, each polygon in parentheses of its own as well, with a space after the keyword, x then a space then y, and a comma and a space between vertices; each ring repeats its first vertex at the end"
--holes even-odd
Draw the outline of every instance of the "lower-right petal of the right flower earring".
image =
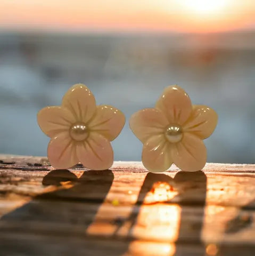
POLYGON ((198 137, 184 133, 182 141, 172 145, 171 157, 183 171, 200 171, 207 161, 207 149, 198 137))

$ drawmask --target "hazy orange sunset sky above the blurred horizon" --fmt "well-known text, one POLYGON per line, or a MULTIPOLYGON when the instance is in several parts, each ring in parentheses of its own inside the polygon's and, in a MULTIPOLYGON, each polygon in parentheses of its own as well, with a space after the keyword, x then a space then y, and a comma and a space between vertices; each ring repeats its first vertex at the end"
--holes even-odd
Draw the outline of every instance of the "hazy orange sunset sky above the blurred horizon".
POLYGON ((211 32, 255 28, 254 0, 0 0, 0 28, 211 32))

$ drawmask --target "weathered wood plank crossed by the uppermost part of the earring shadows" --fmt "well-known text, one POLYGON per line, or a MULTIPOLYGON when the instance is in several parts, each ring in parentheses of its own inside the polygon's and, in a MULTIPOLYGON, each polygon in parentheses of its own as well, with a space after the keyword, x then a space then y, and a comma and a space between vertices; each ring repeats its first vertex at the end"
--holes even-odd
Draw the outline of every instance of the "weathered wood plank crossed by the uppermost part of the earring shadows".
MULTIPOLYGON (((1 169, 0 169, 1 170, 1 169)), ((240 176, 236 174, 211 173, 205 171, 195 173, 166 172, 166 174, 148 174, 147 172, 124 171, 82 171, 82 170, 52 170, 23 171, 5 169, 1 170, 0 191, 23 196, 62 197, 73 200, 100 200, 105 197, 105 190, 110 189, 106 201, 111 203, 118 199, 120 204, 134 204, 138 198, 144 202, 144 197, 152 189, 153 183, 168 182, 166 197, 160 199, 150 193, 145 202, 167 201, 179 204, 202 204, 206 191, 207 204, 226 206, 255 207, 255 179, 254 174, 240 176), (68 182, 70 181, 70 182, 68 182), (55 186, 62 183, 62 186, 55 186), (102 186, 103 183, 103 186, 102 186), (45 185, 49 185, 45 187, 45 185), (52 184, 52 185, 51 185, 52 184), (143 185, 144 184, 144 185, 143 185), (140 192, 140 189, 143 190, 140 192), (100 188, 100 189, 99 189, 100 188)), ((166 189, 165 189, 166 190, 166 189)))

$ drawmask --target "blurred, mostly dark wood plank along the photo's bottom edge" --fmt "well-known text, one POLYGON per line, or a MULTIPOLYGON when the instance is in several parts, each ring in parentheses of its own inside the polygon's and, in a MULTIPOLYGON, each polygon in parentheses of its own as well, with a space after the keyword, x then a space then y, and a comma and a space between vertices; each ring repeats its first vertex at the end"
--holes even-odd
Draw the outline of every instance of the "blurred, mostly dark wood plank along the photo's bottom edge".
POLYGON ((123 241, 121 239, 105 239, 98 237, 72 237, 72 236, 51 236, 49 234, 5 234, 0 239, 3 244, 2 252, 5 255, 28 255, 28 256, 69 256, 69 255, 224 255, 240 256, 254 255, 255 247, 246 244, 237 245, 203 245, 189 243, 158 243, 153 241, 123 241), (210 250, 208 250, 210 249, 210 250), (26 253, 23 253, 26 252, 26 253), (206 252, 210 252, 206 253, 206 252), (242 254, 240 254, 242 252, 242 254))

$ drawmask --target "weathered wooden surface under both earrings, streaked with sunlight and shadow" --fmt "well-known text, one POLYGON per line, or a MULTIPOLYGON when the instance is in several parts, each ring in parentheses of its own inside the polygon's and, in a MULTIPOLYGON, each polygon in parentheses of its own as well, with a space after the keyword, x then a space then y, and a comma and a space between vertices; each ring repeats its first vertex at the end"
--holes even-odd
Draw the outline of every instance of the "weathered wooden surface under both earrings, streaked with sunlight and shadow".
POLYGON ((0 255, 255 255, 255 165, 53 170, 0 155, 0 255))

